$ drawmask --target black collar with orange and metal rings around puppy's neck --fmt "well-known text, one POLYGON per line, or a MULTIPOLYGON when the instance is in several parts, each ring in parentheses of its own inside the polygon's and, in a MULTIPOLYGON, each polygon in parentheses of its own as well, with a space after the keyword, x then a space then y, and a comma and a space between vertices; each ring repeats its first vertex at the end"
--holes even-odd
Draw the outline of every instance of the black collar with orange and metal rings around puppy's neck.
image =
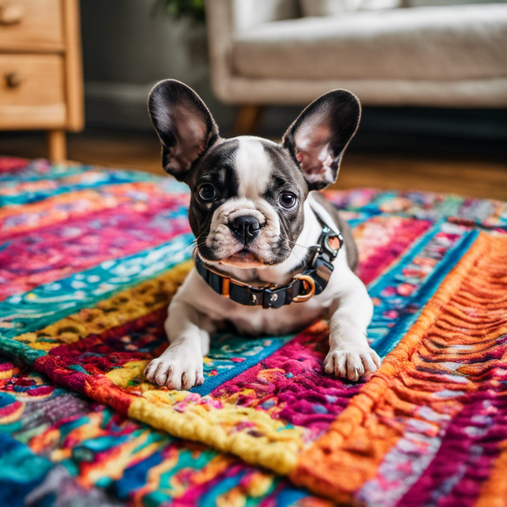
POLYGON ((318 243, 309 248, 312 255, 303 271, 294 275, 292 281, 285 285, 268 283, 264 287, 252 287, 248 283, 225 276, 204 266, 197 255, 197 249, 194 253, 195 267, 213 291, 242 305, 280 308, 292 302, 308 301, 328 285, 334 269, 333 261, 343 245, 342 235, 328 227, 317 213, 315 216, 322 226, 318 243))

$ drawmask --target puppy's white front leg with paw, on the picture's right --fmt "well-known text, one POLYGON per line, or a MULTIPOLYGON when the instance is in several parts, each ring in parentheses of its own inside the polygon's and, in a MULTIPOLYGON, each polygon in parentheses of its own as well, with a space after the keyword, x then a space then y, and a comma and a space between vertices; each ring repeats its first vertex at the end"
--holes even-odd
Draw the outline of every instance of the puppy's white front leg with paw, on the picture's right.
POLYGON ((330 308, 330 350, 324 359, 324 370, 356 381, 361 375, 374 372, 380 366, 380 357, 366 338, 373 315, 372 300, 363 282, 350 274, 346 289, 330 308))

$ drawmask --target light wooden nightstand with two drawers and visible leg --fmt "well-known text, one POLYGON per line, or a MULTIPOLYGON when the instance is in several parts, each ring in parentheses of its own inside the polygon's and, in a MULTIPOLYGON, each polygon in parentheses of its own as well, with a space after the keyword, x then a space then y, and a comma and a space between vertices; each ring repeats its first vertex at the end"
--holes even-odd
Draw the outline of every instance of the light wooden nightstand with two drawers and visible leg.
POLYGON ((59 161, 83 124, 78 0, 0 0, 0 130, 47 130, 59 161))

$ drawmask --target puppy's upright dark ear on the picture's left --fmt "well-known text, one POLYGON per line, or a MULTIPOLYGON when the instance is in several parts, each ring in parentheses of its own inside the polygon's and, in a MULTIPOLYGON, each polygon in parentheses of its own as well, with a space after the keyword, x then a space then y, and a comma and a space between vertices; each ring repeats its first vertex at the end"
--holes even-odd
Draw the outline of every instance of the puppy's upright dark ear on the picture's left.
POLYGON ((162 167, 182 181, 194 161, 218 139, 219 129, 199 95, 174 79, 153 87, 148 110, 162 143, 162 167))

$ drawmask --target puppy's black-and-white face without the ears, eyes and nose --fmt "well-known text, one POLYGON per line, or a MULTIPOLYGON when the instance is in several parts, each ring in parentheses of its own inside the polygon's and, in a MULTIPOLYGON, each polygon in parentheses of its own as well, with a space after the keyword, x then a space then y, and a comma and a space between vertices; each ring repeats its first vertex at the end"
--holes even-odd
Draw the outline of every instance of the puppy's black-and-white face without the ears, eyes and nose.
POLYGON ((291 255, 303 229, 308 188, 287 150, 248 136, 219 142, 193 168, 189 186, 190 224, 204 259, 246 268, 280 264, 291 255), (213 201, 199 198, 197 189, 203 183, 215 188, 213 201), (283 192, 295 194, 294 207, 280 204, 283 192), (255 216, 262 228, 248 245, 228 227, 242 215, 255 216))

